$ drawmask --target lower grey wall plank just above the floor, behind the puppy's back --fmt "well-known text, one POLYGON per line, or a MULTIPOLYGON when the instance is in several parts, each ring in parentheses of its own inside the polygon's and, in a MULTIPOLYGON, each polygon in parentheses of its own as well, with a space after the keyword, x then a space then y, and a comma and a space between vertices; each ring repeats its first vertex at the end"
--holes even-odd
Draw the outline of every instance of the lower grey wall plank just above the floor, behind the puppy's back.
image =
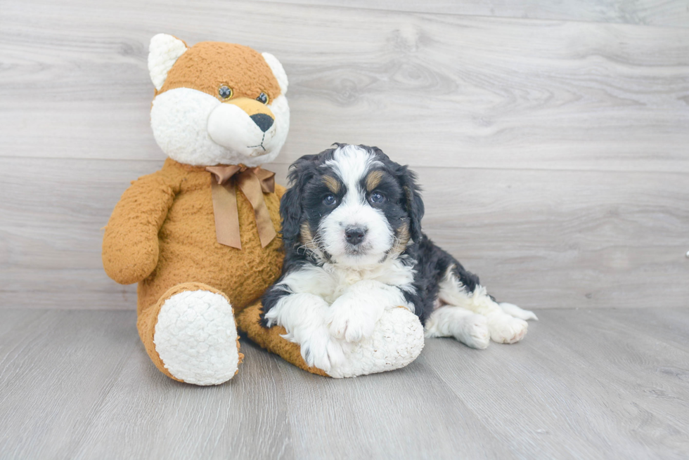
MULTIPOLYGON (((129 181, 161 165, 0 157, 0 308, 134 308, 134 287, 103 272, 101 228, 129 181)), ((266 168, 285 183, 287 165, 266 168)), ((425 231, 503 301, 689 306, 686 174, 416 171, 425 231)))

